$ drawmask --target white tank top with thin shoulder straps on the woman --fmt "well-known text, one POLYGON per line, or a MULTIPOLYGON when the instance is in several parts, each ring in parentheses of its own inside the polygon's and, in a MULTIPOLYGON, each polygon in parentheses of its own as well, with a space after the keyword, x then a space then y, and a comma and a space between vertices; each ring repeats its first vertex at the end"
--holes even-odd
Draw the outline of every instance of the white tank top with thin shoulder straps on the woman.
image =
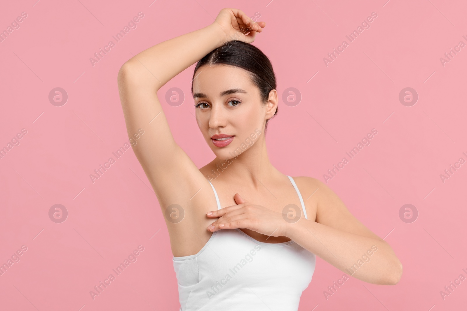
MULTIPOLYGON (((302 195, 287 177, 308 219, 302 195)), ((220 209, 216 189, 209 183, 220 209)), ((198 254, 173 257, 173 263, 179 311, 297 311, 316 257, 293 241, 259 242, 240 229, 221 229, 212 233, 198 254)))

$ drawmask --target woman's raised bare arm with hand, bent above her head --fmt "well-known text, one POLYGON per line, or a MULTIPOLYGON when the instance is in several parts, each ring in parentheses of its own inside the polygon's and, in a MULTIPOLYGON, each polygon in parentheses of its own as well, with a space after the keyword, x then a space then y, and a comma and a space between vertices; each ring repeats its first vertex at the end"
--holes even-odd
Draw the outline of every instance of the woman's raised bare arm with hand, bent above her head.
POLYGON ((173 202, 180 196, 174 188, 188 192, 205 178, 175 143, 157 91, 225 41, 254 41, 255 30, 262 28, 240 10, 222 9, 211 25, 156 44, 121 66, 118 87, 128 136, 144 131, 133 150, 159 197, 173 202))

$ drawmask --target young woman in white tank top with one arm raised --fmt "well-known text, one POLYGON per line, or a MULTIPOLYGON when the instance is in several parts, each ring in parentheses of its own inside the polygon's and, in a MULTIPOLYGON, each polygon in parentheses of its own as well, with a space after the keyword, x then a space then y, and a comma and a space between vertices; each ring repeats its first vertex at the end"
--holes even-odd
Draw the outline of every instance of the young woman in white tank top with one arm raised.
POLYGON ((211 25, 142 51, 118 74, 128 135, 145 133, 133 150, 165 216, 183 311, 296 311, 315 255, 368 283, 396 284, 402 274, 389 244, 329 187, 269 162, 276 76, 250 44, 265 26, 224 8, 211 25), (200 169, 174 141, 157 97, 195 62, 195 117, 215 154, 200 169))

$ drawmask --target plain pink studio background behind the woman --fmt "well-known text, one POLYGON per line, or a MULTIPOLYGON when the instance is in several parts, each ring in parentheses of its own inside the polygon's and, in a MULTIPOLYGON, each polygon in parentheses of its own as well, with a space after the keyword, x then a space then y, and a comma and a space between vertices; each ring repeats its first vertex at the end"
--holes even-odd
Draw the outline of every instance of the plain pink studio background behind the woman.
MULTIPOLYGON (((467 164, 448 180, 440 174, 467 157, 467 43, 463 1, 4 1, 0 30, 28 17, 0 42, 0 148, 27 134, 0 159, 0 263, 27 251, 0 276, 1 310, 178 310, 169 236, 155 194, 128 150, 99 180, 89 175, 128 141, 117 88, 127 59, 161 41, 203 28, 223 7, 260 14, 267 26, 254 45, 269 56, 282 97, 296 88, 268 126, 272 163, 284 174, 324 174, 371 129, 378 133, 328 185, 348 209, 393 247, 403 263, 395 286, 351 278, 326 300, 323 291, 343 272, 317 258, 300 302, 309 310, 461 310, 467 281, 445 299, 440 290, 467 270, 467 164), (151 4, 152 3, 152 4, 151 4), (89 58, 142 12, 144 17, 104 58, 89 58), (345 37, 372 12, 357 39, 345 37), (343 40, 335 60, 323 58, 343 40), (57 107, 49 92, 61 87, 57 107), (401 104, 413 88, 418 101, 401 104), (49 210, 62 204, 68 218, 49 210), (399 218, 404 204, 417 220, 399 218), (156 234, 157 233, 157 234, 156 234), (137 261, 95 299, 89 292, 127 256, 137 261), (315 308, 315 309, 313 309, 315 308)), ((191 66, 159 91, 178 144, 198 167, 212 160, 192 115, 191 66), (177 87, 174 107, 165 92, 177 87)), ((115 158, 114 158, 115 159, 115 158)), ((304 194, 308 196, 307 194, 304 194)))

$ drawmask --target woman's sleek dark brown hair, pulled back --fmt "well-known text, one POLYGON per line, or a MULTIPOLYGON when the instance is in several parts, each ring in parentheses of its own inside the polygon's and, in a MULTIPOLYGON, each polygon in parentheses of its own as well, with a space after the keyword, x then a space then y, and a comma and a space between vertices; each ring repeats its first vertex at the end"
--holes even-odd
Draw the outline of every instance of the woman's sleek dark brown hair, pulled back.
MULTIPOLYGON (((264 55, 259 48, 250 43, 241 40, 231 40, 225 42, 219 48, 212 50, 196 64, 191 81, 194 80, 196 70, 199 67, 216 64, 236 66, 247 70, 252 82, 260 90, 262 104, 264 105, 268 102, 269 92, 276 89, 276 75, 268 56, 264 55)), ((193 82, 191 83, 191 94, 193 95, 193 82)), ((278 110, 279 107, 276 108, 274 116, 278 110)), ((264 134, 266 134, 269 120, 274 116, 266 120, 264 134)))

